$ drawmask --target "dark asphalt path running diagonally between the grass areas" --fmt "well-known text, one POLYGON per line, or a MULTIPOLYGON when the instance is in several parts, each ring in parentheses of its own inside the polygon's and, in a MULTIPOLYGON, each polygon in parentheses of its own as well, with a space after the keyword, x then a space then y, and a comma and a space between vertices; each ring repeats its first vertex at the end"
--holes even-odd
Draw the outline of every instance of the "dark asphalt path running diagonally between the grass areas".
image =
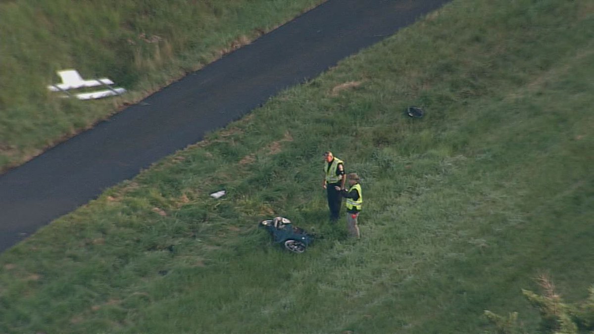
POLYGON ((0 251, 448 0, 329 0, 0 176, 0 251))

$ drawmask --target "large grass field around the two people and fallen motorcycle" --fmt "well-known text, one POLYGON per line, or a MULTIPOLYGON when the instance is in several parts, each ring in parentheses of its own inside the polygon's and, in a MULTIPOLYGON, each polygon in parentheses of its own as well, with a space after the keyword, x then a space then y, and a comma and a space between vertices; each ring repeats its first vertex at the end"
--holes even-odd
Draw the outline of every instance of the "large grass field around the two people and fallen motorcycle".
POLYGON ((1 254, 0 332, 541 332, 521 289, 594 283, 592 31, 588 1, 454 0, 1 254), (275 215, 320 238, 272 247, 275 215))

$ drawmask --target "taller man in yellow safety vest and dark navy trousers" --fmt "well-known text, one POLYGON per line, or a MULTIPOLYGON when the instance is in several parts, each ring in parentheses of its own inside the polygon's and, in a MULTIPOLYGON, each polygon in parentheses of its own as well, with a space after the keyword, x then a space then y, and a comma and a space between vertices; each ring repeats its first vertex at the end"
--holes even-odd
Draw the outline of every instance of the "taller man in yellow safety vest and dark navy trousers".
POLYGON ((330 151, 324 153, 324 183, 322 187, 326 189, 330 220, 332 222, 336 222, 340 214, 340 204, 342 204, 340 190, 345 188, 345 181, 343 161, 335 157, 330 151), (339 190, 336 190, 337 187, 339 190))

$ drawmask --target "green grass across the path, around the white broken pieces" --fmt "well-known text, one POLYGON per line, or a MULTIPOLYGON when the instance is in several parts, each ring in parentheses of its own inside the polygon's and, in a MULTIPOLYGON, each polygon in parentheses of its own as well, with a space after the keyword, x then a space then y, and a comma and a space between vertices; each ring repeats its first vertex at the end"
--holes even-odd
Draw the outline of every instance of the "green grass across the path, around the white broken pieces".
POLYGON ((249 43, 323 0, 0 2, 0 172, 249 43), (122 97, 67 100, 56 71, 122 97))

